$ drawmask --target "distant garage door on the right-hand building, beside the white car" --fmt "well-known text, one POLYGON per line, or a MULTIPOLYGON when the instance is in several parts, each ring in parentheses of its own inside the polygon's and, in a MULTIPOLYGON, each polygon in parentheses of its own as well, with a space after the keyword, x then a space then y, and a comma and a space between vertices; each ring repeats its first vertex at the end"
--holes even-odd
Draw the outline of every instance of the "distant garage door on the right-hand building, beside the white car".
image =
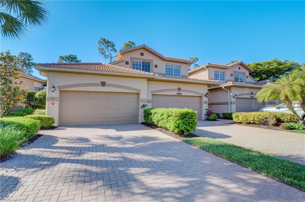
POLYGON ((255 98, 236 98, 236 112, 258 111, 265 103, 258 103, 255 98))

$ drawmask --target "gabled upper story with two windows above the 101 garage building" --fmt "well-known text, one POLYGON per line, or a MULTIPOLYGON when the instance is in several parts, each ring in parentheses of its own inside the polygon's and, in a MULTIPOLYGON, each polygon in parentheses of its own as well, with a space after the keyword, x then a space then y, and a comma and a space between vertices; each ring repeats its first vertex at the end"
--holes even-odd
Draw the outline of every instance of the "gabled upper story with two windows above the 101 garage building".
POLYGON ((160 76, 188 77, 192 60, 163 56, 145 44, 121 50, 110 64, 151 72, 160 76))

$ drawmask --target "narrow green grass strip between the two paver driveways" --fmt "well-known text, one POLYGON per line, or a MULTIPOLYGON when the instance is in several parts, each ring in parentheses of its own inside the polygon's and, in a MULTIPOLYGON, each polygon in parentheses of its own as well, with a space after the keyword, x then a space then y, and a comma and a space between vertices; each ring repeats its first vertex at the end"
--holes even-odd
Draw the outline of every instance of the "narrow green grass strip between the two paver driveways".
POLYGON ((207 137, 182 141, 305 191, 304 165, 207 137))

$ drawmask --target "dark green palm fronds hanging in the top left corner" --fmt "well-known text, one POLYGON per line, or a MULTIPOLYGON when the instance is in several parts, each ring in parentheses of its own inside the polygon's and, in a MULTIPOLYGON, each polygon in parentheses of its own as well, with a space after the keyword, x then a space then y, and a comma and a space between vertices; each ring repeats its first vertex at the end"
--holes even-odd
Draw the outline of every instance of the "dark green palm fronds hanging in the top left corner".
POLYGON ((48 21, 45 2, 38 0, 0 0, 0 32, 7 38, 20 39, 30 28, 48 21))

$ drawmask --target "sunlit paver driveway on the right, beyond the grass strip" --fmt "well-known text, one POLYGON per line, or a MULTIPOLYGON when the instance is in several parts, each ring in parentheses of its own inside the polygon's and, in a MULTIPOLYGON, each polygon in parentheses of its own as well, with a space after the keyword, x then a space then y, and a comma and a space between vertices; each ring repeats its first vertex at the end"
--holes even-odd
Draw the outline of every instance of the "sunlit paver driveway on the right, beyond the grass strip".
POLYGON ((304 134, 228 124, 230 122, 233 121, 198 121, 195 134, 305 164, 304 134))

